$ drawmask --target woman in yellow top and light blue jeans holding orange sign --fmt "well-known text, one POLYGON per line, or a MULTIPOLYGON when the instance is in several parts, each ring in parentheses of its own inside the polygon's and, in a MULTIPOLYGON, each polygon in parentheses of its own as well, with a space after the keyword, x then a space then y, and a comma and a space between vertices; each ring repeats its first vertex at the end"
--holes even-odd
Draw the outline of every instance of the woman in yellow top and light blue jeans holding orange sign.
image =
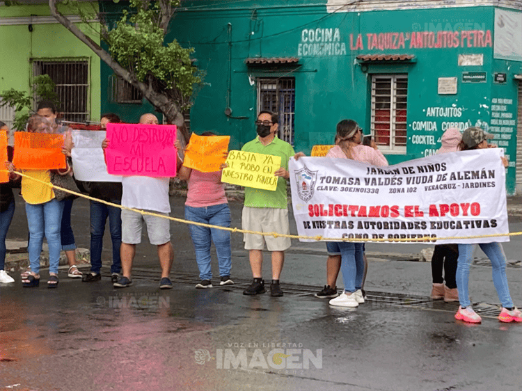
MULTIPOLYGON (((52 128, 41 115, 33 115, 29 119, 27 131, 52 133, 52 128)), ((15 170, 12 165, 10 168, 15 170)), ((60 173, 65 175, 69 171, 70 167, 60 173)), ((24 170, 24 173, 47 184, 51 183, 49 170, 24 170)), ((22 197, 26 202, 25 209, 27 224, 29 225, 28 250, 31 273, 22 278, 22 285, 24 287, 38 287, 40 285, 40 253, 45 236, 49 245, 49 280, 47 287, 56 288, 58 286, 58 262, 61 250, 60 227, 63 202, 56 200, 51 186, 33 181, 29 177, 22 177, 22 197)))

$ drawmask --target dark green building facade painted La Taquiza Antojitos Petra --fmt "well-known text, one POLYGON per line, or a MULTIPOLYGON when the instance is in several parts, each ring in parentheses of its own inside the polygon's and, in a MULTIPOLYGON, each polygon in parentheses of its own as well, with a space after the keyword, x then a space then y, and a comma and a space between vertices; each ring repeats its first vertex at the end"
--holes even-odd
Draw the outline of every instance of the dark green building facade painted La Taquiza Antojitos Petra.
MULTIPOLYGON (((519 1, 182 1, 168 39, 194 47, 206 72, 191 130, 230 135, 232 149, 255 137, 262 109, 307 154, 354 119, 390 164, 477 125, 509 159, 507 193, 522 182, 519 1)), ((102 97, 110 74, 102 66, 102 97)), ((102 99, 102 111, 136 120, 145 108, 102 99)))

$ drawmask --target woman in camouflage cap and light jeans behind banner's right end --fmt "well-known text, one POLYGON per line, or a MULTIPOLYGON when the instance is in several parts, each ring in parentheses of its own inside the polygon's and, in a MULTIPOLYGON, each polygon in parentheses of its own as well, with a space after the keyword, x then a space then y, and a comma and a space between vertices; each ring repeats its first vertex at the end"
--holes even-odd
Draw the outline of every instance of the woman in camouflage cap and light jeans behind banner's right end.
MULTIPOLYGON (((479 127, 468 127, 462 134, 460 149, 480 150, 489 147, 487 139, 491 138, 479 127)), ((507 167, 507 159, 502 157, 503 164, 507 167)), ((514 306, 506 277, 506 257, 502 244, 497 242, 481 243, 480 248, 487 255, 493 266, 493 284, 502 304, 502 311, 498 315, 498 320, 502 322, 521 322, 522 313, 514 306)), ((473 244, 459 244, 459 259, 457 261, 457 288, 459 290, 459 310, 455 314, 455 319, 468 323, 480 323, 481 317, 471 308, 468 294, 469 268, 473 261, 473 244)))

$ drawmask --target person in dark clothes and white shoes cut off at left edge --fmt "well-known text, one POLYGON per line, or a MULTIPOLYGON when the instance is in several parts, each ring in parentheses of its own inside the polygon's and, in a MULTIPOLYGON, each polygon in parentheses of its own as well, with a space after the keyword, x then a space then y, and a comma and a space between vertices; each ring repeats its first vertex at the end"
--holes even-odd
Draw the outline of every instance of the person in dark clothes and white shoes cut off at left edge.
MULTIPOLYGON (((1 121, 0 131, 6 131, 6 133, 9 134, 8 127, 1 121)), ((13 161, 13 147, 7 147, 7 154, 8 161, 5 162, 6 166, 0 167, 1 170, 8 169, 10 166, 9 162, 13 161)), ((3 165, 3 161, 1 161, 1 163, 3 165)), ((3 269, 6 263, 6 236, 9 230, 9 225, 13 220, 13 215, 15 214, 15 197, 13 196, 13 190, 11 189, 13 186, 16 186, 13 180, 15 177, 15 174, 10 173, 9 182, 0 183, 0 282, 3 283, 15 282, 13 277, 9 276, 3 269)))

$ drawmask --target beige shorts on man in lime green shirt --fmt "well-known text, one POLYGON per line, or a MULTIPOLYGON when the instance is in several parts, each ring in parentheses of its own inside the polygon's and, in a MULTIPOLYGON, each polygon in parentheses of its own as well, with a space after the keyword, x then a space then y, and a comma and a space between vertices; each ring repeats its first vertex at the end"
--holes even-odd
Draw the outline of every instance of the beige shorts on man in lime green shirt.
MULTIPOLYGON (((288 209, 243 207, 242 228, 249 231, 290 234, 288 209)), ((246 250, 284 251, 290 248, 290 238, 271 235, 244 234, 246 250)))

